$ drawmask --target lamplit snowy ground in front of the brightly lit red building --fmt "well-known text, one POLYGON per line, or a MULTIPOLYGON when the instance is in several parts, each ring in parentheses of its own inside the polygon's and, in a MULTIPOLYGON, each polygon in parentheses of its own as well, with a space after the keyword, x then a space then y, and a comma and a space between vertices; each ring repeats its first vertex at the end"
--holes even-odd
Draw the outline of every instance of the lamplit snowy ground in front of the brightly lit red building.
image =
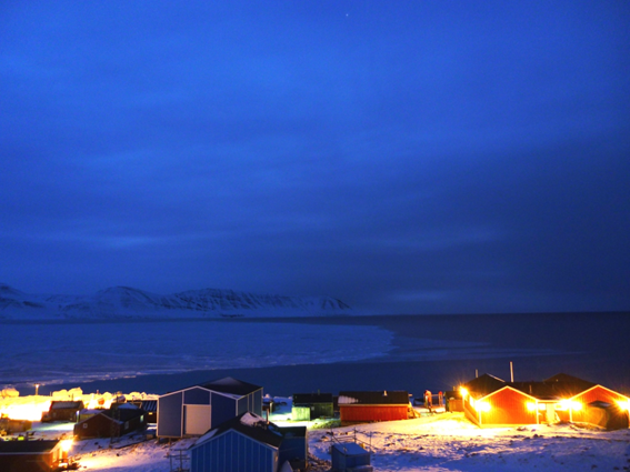
MULTIPOLYGON (((333 430, 336 439, 371 444, 378 471, 630 470, 630 431, 571 425, 480 430, 462 413, 333 430)), ((309 433, 314 455, 330 459, 330 430, 309 433)))

